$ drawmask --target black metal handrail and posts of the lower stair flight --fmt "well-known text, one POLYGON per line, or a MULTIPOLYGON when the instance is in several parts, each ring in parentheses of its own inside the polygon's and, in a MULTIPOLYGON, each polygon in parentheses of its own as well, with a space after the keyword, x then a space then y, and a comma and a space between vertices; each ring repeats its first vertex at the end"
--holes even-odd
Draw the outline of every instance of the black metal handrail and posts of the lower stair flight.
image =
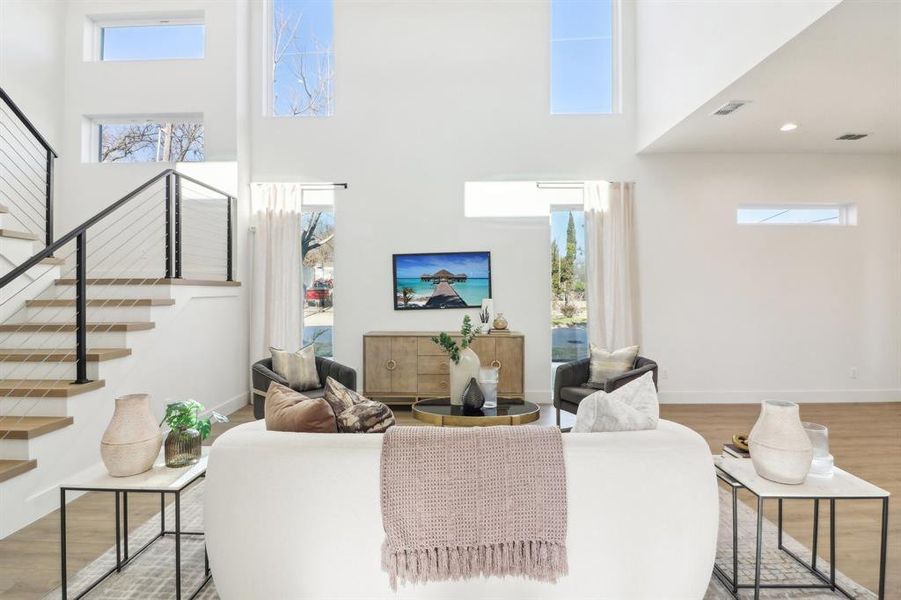
POLYGON ((181 279, 182 277, 182 215, 181 215, 181 184, 182 180, 189 181, 194 185, 203 187, 211 192, 224 197, 226 202, 226 281, 234 281, 233 277, 233 240, 234 240, 234 219, 232 218, 232 210, 235 198, 222 190, 216 189, 202 181, 194 179, 188 175, 178 173, 175 169, 166 169, 165 171, 155 175, 151 179, 142 183, 134 190, 124 195, 119 200, 113 202, 96 215, 78 225, 68 233, 61 236, 56 241, 47 245, 46 248, 36 253, 31 258, 25 260, 22 264, 11 270, 6 275, 0 277, 0 289, 3 289, 18 277, 22 276, 29 269, 35 267, 43 259, 53 256, 55 252, 62 249, 63 246, 75 240, 75 360, 76 360, 76 379, 75 383, 87 383, 87 230, 97 224, 99 221, 116 212, 130 201, 134 200, 140 194, 149 189, 153 184, 165 180, 166 196, 165 196, 165 213, 166 213, 166 230, 165 230, 165 277, 166 279, 181 279), (173 239, 174 236, 174 239, 173 239))

